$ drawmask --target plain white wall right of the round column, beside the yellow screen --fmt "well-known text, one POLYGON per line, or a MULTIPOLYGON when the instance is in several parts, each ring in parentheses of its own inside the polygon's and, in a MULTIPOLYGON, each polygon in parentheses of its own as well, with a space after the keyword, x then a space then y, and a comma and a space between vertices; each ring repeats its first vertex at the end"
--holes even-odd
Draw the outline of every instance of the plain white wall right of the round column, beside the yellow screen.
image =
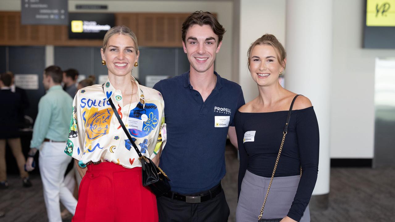
POLYGON ((375 58, 394 49, 363 49, 364 1, 334 0, 331 158, 372 158, 375 58))

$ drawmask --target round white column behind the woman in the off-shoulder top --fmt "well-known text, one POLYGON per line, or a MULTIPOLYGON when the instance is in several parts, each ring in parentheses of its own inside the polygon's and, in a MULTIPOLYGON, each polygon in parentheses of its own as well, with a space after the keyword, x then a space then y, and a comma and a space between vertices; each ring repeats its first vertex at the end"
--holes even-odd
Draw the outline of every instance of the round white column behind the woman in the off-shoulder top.
POLYGON ((320 164, 313 195, 329 194, 332 1, 287 0, 285 86, 307 96, 320 127, 320 164))

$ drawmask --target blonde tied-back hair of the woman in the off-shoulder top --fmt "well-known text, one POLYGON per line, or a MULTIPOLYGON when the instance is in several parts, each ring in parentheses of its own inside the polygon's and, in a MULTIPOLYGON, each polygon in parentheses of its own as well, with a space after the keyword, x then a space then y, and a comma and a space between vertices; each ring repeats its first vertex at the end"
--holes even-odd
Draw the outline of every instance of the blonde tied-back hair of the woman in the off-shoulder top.
POLYGON ((278 59, 278 63, 280 63, 280 66, 285 69, 285 63, 284 60, 287 57, 287 52, 285 51, 284 47, 281 45, 281 43, 277 40, 276 36, 272 34, 264 34, 261 38, 255 40, 250 48, 247 51, 247 66, 250 68, 250 56, 252 49, 256 45, 271 45, 275 49, 276 56, 278 59))

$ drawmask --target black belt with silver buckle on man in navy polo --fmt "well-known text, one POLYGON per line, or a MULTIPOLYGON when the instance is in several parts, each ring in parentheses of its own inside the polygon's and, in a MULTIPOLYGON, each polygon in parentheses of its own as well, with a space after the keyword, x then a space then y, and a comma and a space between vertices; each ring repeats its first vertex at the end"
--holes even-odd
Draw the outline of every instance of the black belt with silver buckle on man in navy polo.
POLYGON ((163 194, 163 196, 171 199, 184 201, 185 203, 201 203, 215 198, 215 196, 220 194, 221 191, 222 191, 222 186, 220 183, 214 186, 213 188, 211 188, 210 190, 201 192, 201 194, 198 196, 184 196, 182 194, 177 194, 171 191, 167 192, 166 194, 163 194))

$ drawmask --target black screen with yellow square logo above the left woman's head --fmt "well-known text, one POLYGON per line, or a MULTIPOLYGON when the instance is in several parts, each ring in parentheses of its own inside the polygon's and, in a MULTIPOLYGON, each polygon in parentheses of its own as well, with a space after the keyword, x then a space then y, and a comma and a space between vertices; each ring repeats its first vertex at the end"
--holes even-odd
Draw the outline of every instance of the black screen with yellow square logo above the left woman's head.
POLYGON ((69 39, 103 39, 113 26, 111 13, 69 13, 69 39))

